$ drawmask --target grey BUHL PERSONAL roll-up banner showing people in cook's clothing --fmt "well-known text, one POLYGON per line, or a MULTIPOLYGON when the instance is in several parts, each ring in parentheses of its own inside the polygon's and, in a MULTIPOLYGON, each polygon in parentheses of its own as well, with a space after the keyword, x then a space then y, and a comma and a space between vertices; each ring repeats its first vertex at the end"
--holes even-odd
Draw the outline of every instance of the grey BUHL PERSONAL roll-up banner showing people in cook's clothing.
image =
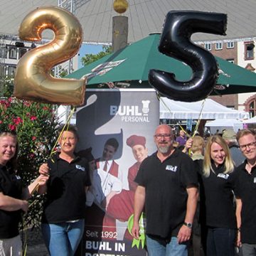
POLYGON ((129 230, 134 178, 141 162, 156 151, 156 92, 87 90, 85 98, 76 119, 78 151, 88 154, 92 181, 86 202, 85 255, 146 255, 144 242, 134 241, 129 230))

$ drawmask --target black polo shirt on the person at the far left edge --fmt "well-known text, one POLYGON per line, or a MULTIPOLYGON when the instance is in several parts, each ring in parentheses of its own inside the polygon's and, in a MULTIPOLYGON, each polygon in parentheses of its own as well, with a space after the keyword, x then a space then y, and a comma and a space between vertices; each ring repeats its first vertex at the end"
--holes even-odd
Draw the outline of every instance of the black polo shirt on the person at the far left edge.
MULTIPOLYGON (((21 199, 21 178, 14 171, 0 165, 0 192, 5 196, 21 199)), ((14 238, 18 235, 18 223, 21 221, 21 210, 0 210, 0 239, 14 238)))

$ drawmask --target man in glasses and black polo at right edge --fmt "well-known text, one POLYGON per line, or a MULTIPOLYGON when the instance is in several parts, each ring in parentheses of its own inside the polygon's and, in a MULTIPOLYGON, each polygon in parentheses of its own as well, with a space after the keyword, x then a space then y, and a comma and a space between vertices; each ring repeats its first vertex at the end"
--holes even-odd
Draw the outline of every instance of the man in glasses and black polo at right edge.
POLYGON ((237 188, 237 222, 238 246, 242 245, 242 255, 256 255, 256 132, 242 129, 237 140, 246 160, 238 166, 237 188))

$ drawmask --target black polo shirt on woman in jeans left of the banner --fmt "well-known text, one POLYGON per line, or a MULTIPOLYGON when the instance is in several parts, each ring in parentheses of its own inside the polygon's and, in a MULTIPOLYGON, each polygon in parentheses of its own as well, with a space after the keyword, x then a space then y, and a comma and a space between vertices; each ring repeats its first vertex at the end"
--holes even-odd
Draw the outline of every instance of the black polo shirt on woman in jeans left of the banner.
POLYGON ((71 163, 58 154, 48 160, 50 177, 47 183, 43 223, 63 223, 85 218, 85 186, 90 186, 87 160, 77 156, 71 163))

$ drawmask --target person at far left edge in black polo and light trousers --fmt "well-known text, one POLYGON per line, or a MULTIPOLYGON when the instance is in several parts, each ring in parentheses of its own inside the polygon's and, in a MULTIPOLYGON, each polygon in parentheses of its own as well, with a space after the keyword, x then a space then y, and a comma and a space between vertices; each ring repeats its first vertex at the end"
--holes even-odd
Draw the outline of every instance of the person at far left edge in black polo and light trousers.
POLYGON ((38 176, 27 188, 22 187, 16 171, 18 141, 12 132, 0 132, 0 255, 22 255, 18 223, 28 210, 31 192, 48 177, 38 176))

